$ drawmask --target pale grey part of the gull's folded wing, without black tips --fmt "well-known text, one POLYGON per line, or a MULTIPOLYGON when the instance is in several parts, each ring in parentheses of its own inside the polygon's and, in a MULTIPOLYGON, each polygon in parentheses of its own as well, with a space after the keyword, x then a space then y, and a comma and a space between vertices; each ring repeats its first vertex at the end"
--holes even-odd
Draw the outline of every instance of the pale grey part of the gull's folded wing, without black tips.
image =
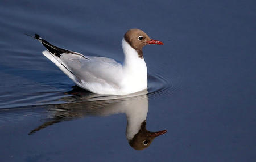
POLYGON ((86 56, 86 58, 89 59, 63 55, 61 60, 77 79, 84 82, 102 82, 102 84, 118 84, 121 82, 121 77, 117 76, 122 74, 122 65, 114 61, 114 59, 89 56, 86 56))

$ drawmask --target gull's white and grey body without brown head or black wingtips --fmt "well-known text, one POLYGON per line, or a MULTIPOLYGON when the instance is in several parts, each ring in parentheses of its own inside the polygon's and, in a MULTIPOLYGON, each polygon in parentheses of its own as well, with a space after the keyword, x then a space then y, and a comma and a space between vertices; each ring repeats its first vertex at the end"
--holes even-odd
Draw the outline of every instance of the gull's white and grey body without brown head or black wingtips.
POLYGON ((57 65, 77 86, 97 94, 126 95, 147 88, 147 66, 135 49, 122 40, 123 65, 107 57, 84 56, 78 53, 57 57, 47 50, 44 56, 57 65), (85 59, 88 58, 88 59, 85 59), (72 73, 71 73, 72 72, 72 73))

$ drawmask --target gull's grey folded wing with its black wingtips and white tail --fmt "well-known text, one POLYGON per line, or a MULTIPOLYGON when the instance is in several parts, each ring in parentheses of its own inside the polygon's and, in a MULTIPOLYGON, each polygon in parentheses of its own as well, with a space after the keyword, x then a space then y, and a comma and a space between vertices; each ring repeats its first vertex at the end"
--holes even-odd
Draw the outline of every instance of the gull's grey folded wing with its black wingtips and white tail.
MULTIPOLYGON (((69 76, 78 86, 88 88, 84 84, 100 84, 117 88, 121 83, 122 65, 114 59, 106 57, 84 56, 77 52, 62 49, 54 46, 35 35, 48 51, 43 54, 57 65, 65 74, 69 76)), ((88 86, 87 85, 87 86, 88 86)))

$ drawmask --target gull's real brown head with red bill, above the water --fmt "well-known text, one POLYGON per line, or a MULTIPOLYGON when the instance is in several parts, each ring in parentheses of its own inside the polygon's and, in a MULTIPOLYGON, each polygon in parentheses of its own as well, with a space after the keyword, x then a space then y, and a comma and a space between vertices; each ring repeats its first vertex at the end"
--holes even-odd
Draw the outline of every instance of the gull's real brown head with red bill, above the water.
POLYGON ((146 33, 140 29, 130 29, 123 36, 127 43, 134 48, 140 58, 143 58, 142 48, 147 44, 163 44, 163 42, 151 39, 146 33))

